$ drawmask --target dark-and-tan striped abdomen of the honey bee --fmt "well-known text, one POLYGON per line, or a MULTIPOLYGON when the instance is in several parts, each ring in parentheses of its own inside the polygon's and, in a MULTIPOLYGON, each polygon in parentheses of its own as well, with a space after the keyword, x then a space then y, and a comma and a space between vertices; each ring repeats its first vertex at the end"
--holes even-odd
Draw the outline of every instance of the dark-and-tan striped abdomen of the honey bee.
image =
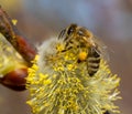
POLYGON ((90 48, 87 59, 88 74, 92 76, 98 71, 99 65, 100 65, 100 54, 97 52, 95 48, 90 48))

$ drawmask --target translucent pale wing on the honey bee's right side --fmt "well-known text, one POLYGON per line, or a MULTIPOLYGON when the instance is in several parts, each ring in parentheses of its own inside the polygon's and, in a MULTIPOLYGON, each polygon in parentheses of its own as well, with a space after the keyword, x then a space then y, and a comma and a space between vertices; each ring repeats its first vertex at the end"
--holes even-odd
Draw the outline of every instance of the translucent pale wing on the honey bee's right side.
POLYGON ((94 41, 97 45, 97 52, 106 60, 109 62, 110 58, 108 54, 108 46, 97 37, 94 37, 94 41))

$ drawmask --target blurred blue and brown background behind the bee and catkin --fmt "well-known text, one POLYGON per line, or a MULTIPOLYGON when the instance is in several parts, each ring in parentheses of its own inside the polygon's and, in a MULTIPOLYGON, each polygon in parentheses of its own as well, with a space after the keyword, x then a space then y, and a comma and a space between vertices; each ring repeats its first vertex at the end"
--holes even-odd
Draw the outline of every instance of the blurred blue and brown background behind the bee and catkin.
MULTIPOLYGON (((121 77, 121 114, 132 113, 132 0, 0 0, 33 44, 70 23, 88 28, 108 46, 110 68, 121 77)), ((31 114, 28 91, 0 85, 0 114, 31 114)))

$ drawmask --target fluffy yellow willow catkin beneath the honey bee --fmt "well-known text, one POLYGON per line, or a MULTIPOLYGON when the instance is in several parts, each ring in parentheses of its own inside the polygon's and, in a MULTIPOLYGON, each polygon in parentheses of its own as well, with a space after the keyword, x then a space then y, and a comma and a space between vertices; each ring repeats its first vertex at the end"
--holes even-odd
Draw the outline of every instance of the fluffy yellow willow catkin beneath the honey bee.
POLYGON ((77 48, 61 52, 62 44, 59 48, 55 43, 57 48, 51 52, 47 49, 52 48, 53 42, 48 43, 47 49, 42 45, 43 50, 38 51, 29 69, 28 104, 33 114, 103 114, 106 111, 119 113, 113 102, 120 99, 117 89, 120 79, 110 72, 107 62, 101 59, 98 72, 91 77, 86 61, 77 63, 78 58, 86 60, 88 53, 80 52, 77 48), (52 61, 51 55, 56 61, 52 61))

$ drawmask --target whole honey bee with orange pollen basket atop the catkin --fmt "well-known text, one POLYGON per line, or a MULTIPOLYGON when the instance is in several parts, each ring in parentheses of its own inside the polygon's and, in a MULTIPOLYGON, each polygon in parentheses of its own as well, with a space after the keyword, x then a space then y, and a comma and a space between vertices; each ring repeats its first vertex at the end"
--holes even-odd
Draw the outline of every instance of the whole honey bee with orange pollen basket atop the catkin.
POLYGON ((97 73, 100 60, 103 56, 102 49, 105 46, 98 43, 96 37, 88 29, 77 24, 70 24, 61 32, 58 39, 63 39, 65 42, 64 51, 79 48, 78 63, 87 63, 87 70, 90 76, 97 73), (86 49, 86 51, 84 52, 82 49, 86 49))

